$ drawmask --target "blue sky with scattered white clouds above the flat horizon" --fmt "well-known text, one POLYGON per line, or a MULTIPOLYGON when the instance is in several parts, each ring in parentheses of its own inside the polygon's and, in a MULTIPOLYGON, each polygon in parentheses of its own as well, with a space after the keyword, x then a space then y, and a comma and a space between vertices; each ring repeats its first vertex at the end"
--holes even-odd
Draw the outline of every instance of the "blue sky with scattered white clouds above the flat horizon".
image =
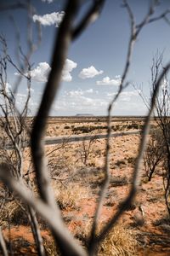
MULTIPOLYGON (((1 4, 16 3, 15 0, 1 4)), ((23 1, 26 3, 26 1, 23 1)), ((64 15, 65 1, 32 0, 36 14, 31 15, 33 42, 37 42, 37 22, 42 27, 42 40, 37 50, 31 55, 31 101, 30 113, 35 115, 44 86, 50 72, 54 38, 59 31, 59 24, 64 15)), ((82 1, 82 8, 77 16, 78 22, 86 13, 91 0, 82 1)), ((129 0, 137 24, 144 19, 150 0, 129 0)), ((153 15, 157 16, 170 9, 170 1, 161 0, 153 15)), ((8 9, 1 12, 0 33, 7 40, 8 53, 17 64, 16 31, 20 34, 20 45, 26 54, 28 48, 28 18, 25 9, 8 9), (11 19, 11 16, 13 17, 11 19), (16 29, 17 27, 17 29, 16 29)), ((169 15, 170 19, 170 15, 169 15)), ((122 0, 106 0, 104 8, 93 24, 82 32, 71 45, 65 60, 59 92, 55 97, 51 115, 64 116, 90 113, 105 115, 111 99, 116 95, 126 64, 127 45, 130 35, 130 20, 127 9, 122 8, 122 0)), ((156 52, 163 52, 163 61, 170 60, 170 25, 165 20, 158 20, 144 26, 139 34, 127 81, 126 90, 122 91, 112 115, 144 115, 147 108, 139 91, 145 96, 150 92, 150 67, 156 52)), ((14 89, 18 73, 8 66, 8 87, 14 89)), ((17 91, 17 108, 21 109, 26 101, 26 81, 23 79, 17 91)))

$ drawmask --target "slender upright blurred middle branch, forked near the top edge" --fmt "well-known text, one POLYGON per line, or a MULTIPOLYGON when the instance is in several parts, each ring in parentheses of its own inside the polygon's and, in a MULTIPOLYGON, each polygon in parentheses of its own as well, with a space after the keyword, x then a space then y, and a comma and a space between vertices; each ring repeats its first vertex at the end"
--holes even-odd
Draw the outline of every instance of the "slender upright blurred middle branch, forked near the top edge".
MULTIPOLYGON (((124 4, 124 7, 127 9, 127 14, 129 15, 130 24, 131 24, 131 34, 130 34, 130 39, 129 39, 129 43, 128 43, 128 47, 127 47, 127 59, 125 62, 125 67, 124 67, 123 73, 122 73, 121 84, 119 85, 119 89, 116 93, 116 96, 112 99, 112 101, 109 105, 109 108, 108 108, 108 118, 107 118, 108 129, 107 129, 106 149, 105 149, 105 152, 106 152, 106 155, 105 155, 105 180, 104 180, 104 183, 102 184, 102 187, 99 192, 97 210, 95 212, 94 224, 93 224, 90 239, 89 239, 88 247, 91 248, 92 251, 95 250, 95 245, 94 245, 95 244, 94 240, 95 240, 95 236, 96 236, 95 232, 96 232, 96 228, 97 228, 97 224, 98 224, 99 214, 101 212, 101 207, 102 207, 103 201, 105 199, 105 193, 107 191, 107 187, 110 182, 109 162, 110 162, 110 149, 111 149, 111 110, 114 106, 114 103, 116 102, 118 97, 121 95, 122 90, 124 90, 128 85, 128 83, 125 83, 125 80, 127 79, 127 73, 129 71, 129 67, 130 67, 130 63, 131 63, 131 59, 132 59, 132 55, 133 55, 133 45, 139 36, 139 32, 141 32, 142 28, 147 23, 149 23, 150 15, 153 15, 155 7, 156 7, 156 1, 151 3, 150 9, 149 9, 148 13, 145 15, 143 21, 139 25, 137 25, 134 20, 133 11, 130 8, 129 4, 127 3, 127 0, 123 0, 123 4, 124 4)), ((128 201, 128 198, 127 198, 127 201, 128 201)), ((124 212, 124 210, 122 212, 124 212)), ((121 212, 121 214, 122 214, 122 212, 121 212)), ((113 224, 111 224, 111 226, 112 225, 113 224)))

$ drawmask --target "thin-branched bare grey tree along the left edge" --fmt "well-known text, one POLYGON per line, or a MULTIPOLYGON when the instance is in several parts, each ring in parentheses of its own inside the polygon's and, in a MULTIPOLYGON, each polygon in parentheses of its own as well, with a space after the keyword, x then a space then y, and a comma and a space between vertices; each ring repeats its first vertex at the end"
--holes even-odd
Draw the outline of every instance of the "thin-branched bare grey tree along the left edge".
MULTIPOLYGON (((26 159, 26 144, 30 137, 29 126, 31 125, 29 124, 27 117, 31 98, 31 65, 28 59, 31 55, 31 49, 27 55, 24 55, 19 45, 21 59, 24 60, 24 63, 21 63, 20 61, 19 65, 12 60, 10 55, 8 55, 8 45, 3 36, 0 36, 0 45, 2 49, 0 54, 0 111, 2 115, 2 118, 0 119, 2 133, 0 146, 1 165, 8 164, 10 175, 18 181, 27 183, 27 186, 30 187, 29 179, 26 180, 23 168, 24 160, 26 159), (23 102, 20 111, 16 104, 17 88, 15 86, 15 90, 13 90, 10 84, 8 84, 9 65, 14 67, 15 72, 18 73, 19 79, 17 79, 17 87, 18 84, 20 84, 21 79, 26 79, 27 93, 25 102, 23 102)), ((11 195, 10 191, 8 192, 8 195, 11 195)), ((14 200, 13 195, 10 200, 14 200)), ((39 255, 45 255, 36 212, 30 206, 26 206, 26 214, 31 223, 31 230, 37 245, 37 252, 39 255)))

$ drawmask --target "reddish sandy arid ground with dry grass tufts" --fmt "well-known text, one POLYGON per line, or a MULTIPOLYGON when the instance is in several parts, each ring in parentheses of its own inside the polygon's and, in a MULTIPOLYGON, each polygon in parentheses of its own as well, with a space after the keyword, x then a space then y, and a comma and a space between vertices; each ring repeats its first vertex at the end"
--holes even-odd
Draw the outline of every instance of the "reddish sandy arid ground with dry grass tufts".
MULTIPOLYGON (((111 125, 113 132, 139 131, 143 119, 116 119, 111 125)), ((154 125, 152 121, 151 127, 154 125)), ((101 133, 106 133, 104 119, 49 119, 46 136, 101 133)), ((127 196, 139 140, 139 134, 111 138, 111 181, 99 218, 100 227, 114 215, 127 196)), ((46 146, 46 152, 54 195, 65 224, 82 244, 86 244, 104 178, 105 139, 77 143, 65 140, 63 144, 46 146)), ((25 154, 27 173, 31 168, 29 148, 25 154)), ((161 169, 161 166, 156 168, 149 182, 143 166, 135 201, 99 248, 99 255, 170 255, 170 219, 164 200, 161 169)), ((30 178, 34 178, 34 173, 30 178)), ((3 234, 14 255, 37 255, 25 210, 20 204, 9 201, 2 207, 0 221, 3 234)), ((48 255, 56 255, 48 225, 41 217, 38 218, 46 251, 48 255)))

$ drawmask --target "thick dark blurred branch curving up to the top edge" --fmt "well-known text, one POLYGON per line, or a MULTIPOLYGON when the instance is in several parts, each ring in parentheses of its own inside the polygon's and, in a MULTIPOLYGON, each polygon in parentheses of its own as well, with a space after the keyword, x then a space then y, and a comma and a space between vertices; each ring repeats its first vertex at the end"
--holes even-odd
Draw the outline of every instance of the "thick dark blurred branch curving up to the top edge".
MULTIPOLYGON (((54 101, 54 96, 59 89, 62 69, 65 64, 66 52, 72 38, 72 23, 77 13, 79 1, 68 2, 65 10, 65 17, 59 26, 59 33, 54 48, 54 59, 52 61, 51 73, 48 77, 48 83, 42 96, 42 102, 35 119, 32 134, 31 134, 31 150, 35 169, 37 173, 37 183, 40 190, 40 195, 46 201, 51 198, 50 193, 43 189, 43 183, 48 184, 46 172, 46 163, 44 158, 43 139, 46 127, 46 119, 48 117, 51 104, 54 101), (43 174, 42 174, 43 172, 43 174)), ((48 186, 49 187, 49 186, 48 186)))

